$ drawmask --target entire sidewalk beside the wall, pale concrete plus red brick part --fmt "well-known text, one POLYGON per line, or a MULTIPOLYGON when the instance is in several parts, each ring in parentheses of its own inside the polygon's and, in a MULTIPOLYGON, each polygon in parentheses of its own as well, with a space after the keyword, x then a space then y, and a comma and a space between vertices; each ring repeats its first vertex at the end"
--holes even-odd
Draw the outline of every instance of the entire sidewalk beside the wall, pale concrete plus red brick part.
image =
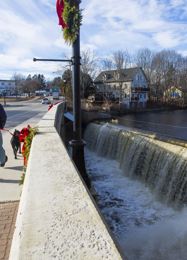
MULTIPOLYGON (((19 131, 23 127, 37 125, 42 117, 47 113, 43 111, 33 118, 11 129, 19 131)), ((1 131, 3 135, 3 148, 5 149, 8 161, 4 167, 0 168, 0 259, 8 259, 12 237, 15 230, 17 211, 19 207, 20 193, 23 185, 18 185, 23 172, 23 156, 17 153, 17 160, 14 159, 13 149, 10 144, 12 135, 7 131, 1 131), (9 203, 8 203, 9 202, 9 203)), ((21 148, 23 143, 21 144, 21 148)))

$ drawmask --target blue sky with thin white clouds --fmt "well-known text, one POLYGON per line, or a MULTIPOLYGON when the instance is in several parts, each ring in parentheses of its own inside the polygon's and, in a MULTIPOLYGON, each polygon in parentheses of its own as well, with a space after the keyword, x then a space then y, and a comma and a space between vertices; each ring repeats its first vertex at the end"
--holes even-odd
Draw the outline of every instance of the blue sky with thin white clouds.
MULTIPOLYGON (((58 25, 56 0, 1 0, 0 7, 0 79, 10 79, 14 70, 52 79, 57 62, 32 60, 60 59, 71 51, 58 25)), ((187 55, 186 0, 82 0, 80 7, 82 49, 105 55, 119 48, 172 48, 187 55)))

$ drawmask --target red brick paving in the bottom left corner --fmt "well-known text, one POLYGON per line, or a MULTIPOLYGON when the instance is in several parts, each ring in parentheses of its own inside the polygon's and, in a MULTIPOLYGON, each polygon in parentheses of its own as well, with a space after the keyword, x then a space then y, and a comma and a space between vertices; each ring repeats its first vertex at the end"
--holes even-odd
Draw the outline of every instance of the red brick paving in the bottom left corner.
POLYGON ((9 259, 19 202, 0 204, 0 259, 9 259))

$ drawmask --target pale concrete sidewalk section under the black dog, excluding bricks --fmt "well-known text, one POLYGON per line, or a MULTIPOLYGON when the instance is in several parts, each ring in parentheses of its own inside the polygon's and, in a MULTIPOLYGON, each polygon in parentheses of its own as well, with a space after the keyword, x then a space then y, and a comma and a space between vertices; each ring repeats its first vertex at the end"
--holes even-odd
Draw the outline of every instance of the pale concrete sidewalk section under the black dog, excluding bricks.
MULTIPOLYGON (((9 130, 12 134, 15 129, 21 131, 23 127, 27 127, 30 125, 33 127, 37 125, 41 118, 46 114, 46 111, 35 115, 33 118, 21 123, 9 130)), ((3 135, 3 148, 5 149, 5 153, 8 156, 8 161, 6 162, 4 167, 0 168, 0 203, 3 202, 13 202, 20 200, 20 193, 23 185, 19 186, 19 181, 21 179, 21 175, 23 172, 23 156, 17 152, 17 160, 14 159, 14 153, 12 146, 10 144, 10 140, 12 135, 4 130, 1 130, 3 135)), ((22 149, 23 143, 21 144, 22 149)))

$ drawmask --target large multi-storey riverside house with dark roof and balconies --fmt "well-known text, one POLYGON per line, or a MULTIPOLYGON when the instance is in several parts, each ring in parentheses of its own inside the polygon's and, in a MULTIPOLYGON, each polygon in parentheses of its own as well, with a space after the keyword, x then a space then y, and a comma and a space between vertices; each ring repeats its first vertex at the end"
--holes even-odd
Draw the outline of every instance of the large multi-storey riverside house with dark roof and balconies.
POLYGON ((123 95, 121 102, 126 108, 135 108, 137 101, 137 109, 147 108, 147 76, 142 67, 119 70, 102 71, 93 81, 95 93, 92 99, 95 102, 104 102, 106 94, 109 102, 119 103, 119 82, 122 75, 123 95))

